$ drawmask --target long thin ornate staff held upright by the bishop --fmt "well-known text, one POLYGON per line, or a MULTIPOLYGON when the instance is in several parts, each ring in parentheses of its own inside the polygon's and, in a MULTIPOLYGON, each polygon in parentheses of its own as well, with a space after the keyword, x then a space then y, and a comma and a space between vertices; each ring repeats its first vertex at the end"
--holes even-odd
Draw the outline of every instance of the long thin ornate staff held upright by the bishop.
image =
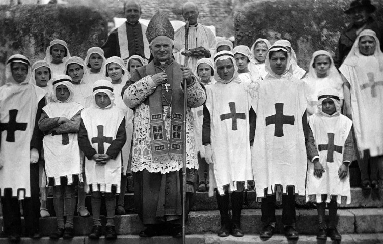
MULTIPOLYGON (((189 50, 189 20, 185 24, 185 53, 189 50)), ((187 67, 189 56, 185 55, 184 65, 187 67)), ((187 108, 187 82, 183 80, 183 161, 182 161, 182 243, 186 244, 186 109, 187 108)))

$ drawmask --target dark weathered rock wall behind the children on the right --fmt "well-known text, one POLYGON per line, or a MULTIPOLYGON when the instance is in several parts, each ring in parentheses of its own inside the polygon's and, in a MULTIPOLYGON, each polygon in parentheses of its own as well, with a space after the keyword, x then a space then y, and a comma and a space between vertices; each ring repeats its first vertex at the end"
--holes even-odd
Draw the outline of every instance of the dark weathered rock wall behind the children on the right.
MULTIPOLYGON (((258 38, 271 44, 279 39, 291 42, 298 65, 308 71, 311 55, 317 50, 334 53, 343 29, 350 24, 344 14, 349 0, 253 0, 235 13, 237 45, 251 47, 258 38)), ((372 1, 374 13, 383 21, 383 2, 372 1)))

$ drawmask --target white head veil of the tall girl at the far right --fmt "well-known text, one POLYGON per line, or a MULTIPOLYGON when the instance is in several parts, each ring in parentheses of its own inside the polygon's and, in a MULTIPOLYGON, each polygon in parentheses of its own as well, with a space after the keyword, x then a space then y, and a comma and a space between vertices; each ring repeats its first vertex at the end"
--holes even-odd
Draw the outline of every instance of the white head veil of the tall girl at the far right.
POLYGON ((350 65, 350 66, 355 66, 358 63, 358 59, 360 56, 363 56, 363 54, 360 53, 359 51, 359 40, 363 36, 370 36, 375 39, 376 45, 375 45, 375 52, 373 57, 377 58, 379 61, 379 70, 380 72, 383 72, 383 53, 380 50, 380 41, 376 36, 376 33, 372 31, 371 29, 365 29, 362 31, 357 39, 355 39, 354 44, 352 45, 351 51, 348 53, 347 57, 344 59, 343 64, 350 65))

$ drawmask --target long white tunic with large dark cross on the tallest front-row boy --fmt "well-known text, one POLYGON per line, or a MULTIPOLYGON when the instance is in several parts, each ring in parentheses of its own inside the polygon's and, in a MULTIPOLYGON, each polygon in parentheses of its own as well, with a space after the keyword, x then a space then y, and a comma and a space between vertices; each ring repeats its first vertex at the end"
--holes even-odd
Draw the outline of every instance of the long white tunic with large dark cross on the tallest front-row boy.
POLYGON ((265 188, 272 194, 276 185, 282 185, 284 193, 293 185, 296 194, 304 195, 307 156, 302 116, 306 106, 305 82, 292 74, 286 73, 281 79, 267 75, 259 82, 252 101, 257 114, 252 164, 258 197, 265 197, 265 188), (275 127, 277 107, 289 116, 282 128, 275 127))

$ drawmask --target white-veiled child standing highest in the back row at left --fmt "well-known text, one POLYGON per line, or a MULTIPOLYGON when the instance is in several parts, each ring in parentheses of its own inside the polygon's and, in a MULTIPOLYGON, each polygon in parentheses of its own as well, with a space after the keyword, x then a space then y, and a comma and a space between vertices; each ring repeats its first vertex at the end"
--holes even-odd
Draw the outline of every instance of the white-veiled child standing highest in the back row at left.
POLYGON ((46 49, 44 61, 48 63, 54 75, 65 74, 65 63, 70 58, 68 45, 63 40, 53 40, 46 49))

